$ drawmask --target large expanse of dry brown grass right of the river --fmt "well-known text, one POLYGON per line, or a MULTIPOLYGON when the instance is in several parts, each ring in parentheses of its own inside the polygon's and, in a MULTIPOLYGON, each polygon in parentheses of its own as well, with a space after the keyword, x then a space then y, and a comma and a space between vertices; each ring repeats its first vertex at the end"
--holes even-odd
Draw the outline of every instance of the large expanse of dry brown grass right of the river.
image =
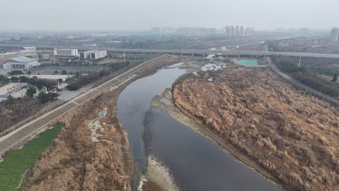
POLYGON ((181 111, 285 188, 339 190, 338 107, 281 81, 269 68, 238 65, 181 78, 172 95, 181 111))

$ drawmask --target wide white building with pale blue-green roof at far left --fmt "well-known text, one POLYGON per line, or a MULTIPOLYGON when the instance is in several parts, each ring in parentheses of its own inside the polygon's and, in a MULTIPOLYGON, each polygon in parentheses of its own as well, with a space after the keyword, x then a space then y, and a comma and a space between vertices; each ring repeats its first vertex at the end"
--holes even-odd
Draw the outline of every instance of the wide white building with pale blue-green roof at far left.
POLYGON ((3 64, 3 69, 28 69, 38 65, 40 65, 38 59, 18 56, 6 59, 3 64))

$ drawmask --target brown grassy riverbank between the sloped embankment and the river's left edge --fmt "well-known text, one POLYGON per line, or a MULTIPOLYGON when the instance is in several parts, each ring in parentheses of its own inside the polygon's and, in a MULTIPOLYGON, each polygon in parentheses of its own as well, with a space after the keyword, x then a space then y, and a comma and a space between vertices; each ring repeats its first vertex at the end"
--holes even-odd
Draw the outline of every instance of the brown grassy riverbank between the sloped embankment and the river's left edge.
MULTIPOLYGON (((174 62, 177 58, 169 56, 156 59, 139 70, 135 79, 174 62)), ((134 165, 115 106, 120 92, 133 80, 79 105, 53 122, 63 124, 64 128, 52 148, 28 172, 30 178, 25 190, 131 191, 134 165)))

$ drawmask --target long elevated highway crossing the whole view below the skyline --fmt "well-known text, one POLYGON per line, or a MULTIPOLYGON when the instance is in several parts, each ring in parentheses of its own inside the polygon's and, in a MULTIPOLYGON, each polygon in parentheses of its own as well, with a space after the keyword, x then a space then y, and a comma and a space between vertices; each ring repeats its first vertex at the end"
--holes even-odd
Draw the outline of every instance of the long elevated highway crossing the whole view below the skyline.
MULTIPOLYGON (((91 50, 89 47, 63 47, 63 46, 47 46, 47 45, 13 45, 13 44, 0 44, 0 47, 25 47, 34 46, 37 48, 65 48, 65 49, 79 49, 79 50, 91 50)), ((339 58, 338 54, 318 54, 318 53, 293 53, 293 52, 268 52, 268 51, 223 51, 223 50, 150 50, 150 49, 116 49, 116 48, 96 48, 99 50, 107 50, 112 52, 130 52, 130 53, 152 53, 152 54, 222 54, 222 55, 253 55, 253 56, 270 56, 270 55, 282 55, 292 57, 317 57, 317 58, 339 58)))

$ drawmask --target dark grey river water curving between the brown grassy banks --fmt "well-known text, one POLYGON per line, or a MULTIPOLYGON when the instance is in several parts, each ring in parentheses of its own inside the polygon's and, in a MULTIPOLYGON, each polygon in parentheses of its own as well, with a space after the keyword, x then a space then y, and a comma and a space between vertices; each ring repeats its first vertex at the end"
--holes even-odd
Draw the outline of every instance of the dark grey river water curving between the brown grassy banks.
MULTIPOLYGON (((137 171, 146 173, 147 156, 152 155, 169 169, 181 191, 279 191, 217 144, 173 120, 167 112, 151 108, 152 98, 186 72, 193 71, 162 68, 129 84, 118 98, 117 114, 128 133, 137 171)), ((134 175, 132 188, 136 184, 134 175)))

